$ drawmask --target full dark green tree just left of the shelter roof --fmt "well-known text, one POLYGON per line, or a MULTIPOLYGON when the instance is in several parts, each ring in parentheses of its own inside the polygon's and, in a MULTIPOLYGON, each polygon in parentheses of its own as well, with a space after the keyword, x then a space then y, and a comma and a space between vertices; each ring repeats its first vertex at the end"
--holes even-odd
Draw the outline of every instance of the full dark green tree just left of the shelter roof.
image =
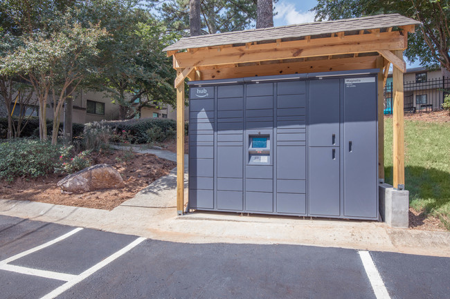
POLYGON ((174 105, 172 86, 176 73, 162 51, 175 39, 165 34, 161 22, 133 1, 113 1, 102 17, 109 35, 100 44, 101 73, 90 86, 107 92, 119 106, 119 118, 127 119, 154 103, 174 105), (114 16, 108 16, 110 12, 114 16))

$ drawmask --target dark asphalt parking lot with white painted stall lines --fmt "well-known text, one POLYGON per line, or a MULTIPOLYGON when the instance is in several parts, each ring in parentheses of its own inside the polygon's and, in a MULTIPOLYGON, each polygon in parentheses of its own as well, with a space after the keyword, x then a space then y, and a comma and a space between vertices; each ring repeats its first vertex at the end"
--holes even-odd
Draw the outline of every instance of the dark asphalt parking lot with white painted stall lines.
POLYGON ((1 298, 450 298, 450 258, 185 244, 0 215, 1 298))

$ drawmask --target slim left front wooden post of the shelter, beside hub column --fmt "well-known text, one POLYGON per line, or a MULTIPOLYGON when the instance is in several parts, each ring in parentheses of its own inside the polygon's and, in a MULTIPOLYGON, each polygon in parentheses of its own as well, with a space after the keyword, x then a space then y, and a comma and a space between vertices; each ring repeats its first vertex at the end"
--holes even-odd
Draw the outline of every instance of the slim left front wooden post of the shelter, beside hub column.
POLYGON ((177 87, 177 214, 184 211, 184 82, 177 87))

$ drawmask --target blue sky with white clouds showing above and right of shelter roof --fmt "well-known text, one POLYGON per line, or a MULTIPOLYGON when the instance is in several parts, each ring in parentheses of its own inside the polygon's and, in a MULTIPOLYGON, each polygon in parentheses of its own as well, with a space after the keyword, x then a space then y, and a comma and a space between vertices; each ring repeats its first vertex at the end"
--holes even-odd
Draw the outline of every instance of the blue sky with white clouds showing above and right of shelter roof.
MULTIPOLYGON (((316 0, 280 0, 275 6, 277 15, 273 17, 273 26, 285 26, 298 23, 314 22, 314 12, 310 11, 316 6, 316 0)), ((418 61, 411 64, 406 61, 406 68, 417 68, 418 61)), ((392 67, 392 66, 391 66, 392 67)))

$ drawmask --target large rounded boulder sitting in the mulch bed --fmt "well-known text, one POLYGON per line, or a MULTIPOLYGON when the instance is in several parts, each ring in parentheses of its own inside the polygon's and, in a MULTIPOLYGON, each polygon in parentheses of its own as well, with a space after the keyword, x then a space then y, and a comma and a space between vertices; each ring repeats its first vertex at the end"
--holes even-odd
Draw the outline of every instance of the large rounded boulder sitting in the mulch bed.
POLYGON ((98 189, 124 188, 125 183, 115 168, 97 164, 67 175, 57 183, 62 193, 84 193, 98 189))

